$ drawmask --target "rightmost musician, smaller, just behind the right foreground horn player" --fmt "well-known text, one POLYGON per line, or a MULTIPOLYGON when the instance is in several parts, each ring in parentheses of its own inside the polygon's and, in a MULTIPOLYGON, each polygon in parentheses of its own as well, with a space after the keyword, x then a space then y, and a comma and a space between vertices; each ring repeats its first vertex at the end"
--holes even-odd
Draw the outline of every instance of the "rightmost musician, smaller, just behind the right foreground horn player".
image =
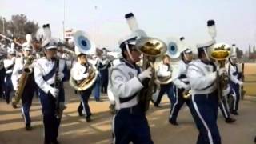
POLYGON ((228 66, 228 72, 230 75, 230 86, 234 90, 234 98, 231 101, 230 113, 238 115, 238 105, 240 101, 240 87, 243 86, 243 82, 239 79, 237 57, 235 54, 231 54, 229 58, 230 65, 228 66))

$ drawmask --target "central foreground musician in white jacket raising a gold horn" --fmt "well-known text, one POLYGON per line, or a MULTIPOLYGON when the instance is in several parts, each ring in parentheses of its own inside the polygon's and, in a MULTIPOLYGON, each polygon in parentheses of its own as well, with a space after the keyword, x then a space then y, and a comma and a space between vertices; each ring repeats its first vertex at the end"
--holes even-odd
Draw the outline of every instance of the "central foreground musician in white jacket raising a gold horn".
POLYGON ((145 111, 139 103, 138 93, 142 81, 151 78, 151 68, 141 72, 136 62, 141 53, 135 49, 137 37, 130 36, 120 41, 123 58, 110 73, 117 114, 113 118, 114 143, 153 143, 145 111))

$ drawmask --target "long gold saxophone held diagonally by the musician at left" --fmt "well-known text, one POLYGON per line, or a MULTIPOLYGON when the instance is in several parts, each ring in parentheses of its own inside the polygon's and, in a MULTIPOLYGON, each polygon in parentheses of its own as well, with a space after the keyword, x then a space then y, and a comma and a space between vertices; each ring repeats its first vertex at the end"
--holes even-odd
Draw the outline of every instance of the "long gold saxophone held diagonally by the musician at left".
POLYGON ((17 108, 17 104, 20 101, 20 99, 22 98, 22 94, 23 94, 23 90, 26 86, 27 78, 32 73, 32 70, 30 70, 29 66, 33 63, 33 61, 34 61, 33 56, 29 56, 26 58, 26 63, 23 68, 22 76, 18 79, 18 90, 16 90, 16 92, 14 94, 13 101, 12 101, 12 106, 14 108, 17 108))

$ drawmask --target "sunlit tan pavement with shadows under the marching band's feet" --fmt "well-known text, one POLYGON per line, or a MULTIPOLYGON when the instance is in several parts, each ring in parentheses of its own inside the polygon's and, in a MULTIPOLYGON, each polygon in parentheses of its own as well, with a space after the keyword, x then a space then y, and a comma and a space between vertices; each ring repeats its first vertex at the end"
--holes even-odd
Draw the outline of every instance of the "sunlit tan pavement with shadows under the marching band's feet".
MULTIPOLYGON (((87 123, 78 117, 78 97, 73 90, 66 89, 67 109, 62 118, 59 129, 59 141, 62 144, 90 144, 111 142, 111 117, 108 111, 109 102, 106 95, 104 102, 94 102, 91 98, 90 107, 93 112, 93 121, 87 123)), ((172 126, 167 122, 170 113, 170 104, 165 97, 161 108, 151 106, 147 114, 154 143, 190 144, 195 143, 198 137, 190 111, 184 105, 178 116, 179 126, 172 126)), ((32 131, 24 129, 20 109, 13 109, 0 99, 0 143, 1 144, 37 144, 43 142, 42 111, 37 98, 34 98, 31 108, 32 131)), ((239 115, 234 116, 237 122, 226 124, 219 113, 218 127, 224 144, 253 144, 256 135, 256 98, 246 97, 240 104, 239 115)))

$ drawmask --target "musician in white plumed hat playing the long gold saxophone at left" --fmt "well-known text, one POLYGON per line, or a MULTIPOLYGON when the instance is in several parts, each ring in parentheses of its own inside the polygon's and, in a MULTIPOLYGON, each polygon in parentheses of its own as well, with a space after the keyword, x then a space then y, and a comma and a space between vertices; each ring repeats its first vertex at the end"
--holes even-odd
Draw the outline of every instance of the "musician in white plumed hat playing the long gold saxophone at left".
MULTIPOLYGON (((32 56, 32 47, 30 45, 29 39, 31 37, 30 34, 26 35, 27 42, 22 44, 22 57, 16 58, 13 74, 11 76, 11 80, 14 86, 14 90, 18 90, 18 84, 21 84, 20 78, 23 73, 25 73, 25 66, 27 63, 30 63, 29 57, 32 56)), ((36 89, 36 84, 34 82, 34 64, 28 66, 31 73, 29 74, 26 83, 24 83, 25 87, 22 92, 22 116, 26 123, 26 130, 31 130, 31 119, 30 119, 30 106, 32 104, 34 91, 36 89)), ((13 103, 14 108, 16 104, 13 103)))

